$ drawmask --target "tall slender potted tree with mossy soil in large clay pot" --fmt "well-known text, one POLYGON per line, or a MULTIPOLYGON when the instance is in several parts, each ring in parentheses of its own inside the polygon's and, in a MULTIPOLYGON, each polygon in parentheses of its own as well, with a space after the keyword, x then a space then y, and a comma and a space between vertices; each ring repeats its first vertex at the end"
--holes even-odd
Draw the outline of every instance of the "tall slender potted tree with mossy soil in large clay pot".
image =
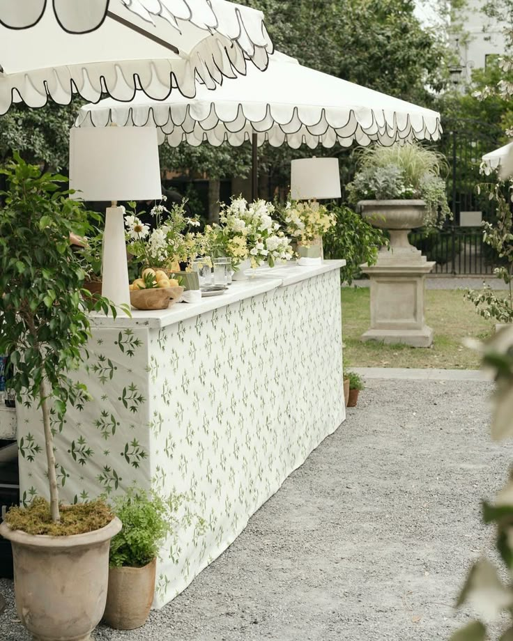
POLYGON ((70 233, 85 236, 91 213, 68 198, 68 179, 19 155, 1 173, 8 188, 0 194, 0 353, 10 355, 17 401, 41 408, 49 503, 10 510, 0 534, 13 546, 22 624, 35 639, 85 640, 105 608, 109 541, 121 522, 101 501, 59 505, 50 410, 63 421, 68 406, 84 401, 86 389, 70 372, 89 339, 88 311, 116 310, 82 289, 70 233))

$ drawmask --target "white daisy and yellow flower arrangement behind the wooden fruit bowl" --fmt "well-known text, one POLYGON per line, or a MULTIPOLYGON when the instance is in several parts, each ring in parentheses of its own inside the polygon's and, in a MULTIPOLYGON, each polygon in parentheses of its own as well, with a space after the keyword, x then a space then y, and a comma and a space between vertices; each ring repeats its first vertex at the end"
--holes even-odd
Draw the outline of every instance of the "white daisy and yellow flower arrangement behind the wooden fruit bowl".
MULTIPOLYGON (((165 196, 162 196, 162 201, 165 201, 165 196)), ((128 251, 145 267, 178 270, 178 263, 192 263, 201 253, 204 238, 190 231, 190 228, 199 226, 199 221, 185 215, 185 202, 175 203, 170 210, 162 203, 155 205, 151 210, 155 219, 153 231, 135 213, 125 215, 128 251)), ((134 205, 130 203, 130 206, 134 205)))

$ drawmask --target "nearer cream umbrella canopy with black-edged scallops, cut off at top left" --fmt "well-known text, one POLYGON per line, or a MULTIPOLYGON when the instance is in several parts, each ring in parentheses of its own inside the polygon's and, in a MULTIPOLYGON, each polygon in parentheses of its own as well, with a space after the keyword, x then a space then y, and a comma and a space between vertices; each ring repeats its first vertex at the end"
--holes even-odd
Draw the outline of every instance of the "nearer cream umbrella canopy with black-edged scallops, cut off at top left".
POLYGON ((41 15, 40 0, 0 6, 0 114, 12 102, 68 104, 73 93, 192 97, 197 79, 212 89, 245 73, 247 60, 265 69, 273 50, 263 14, 226 0, 54 0, 41 15), (80 24, 86 33, 70 33, 80 24))

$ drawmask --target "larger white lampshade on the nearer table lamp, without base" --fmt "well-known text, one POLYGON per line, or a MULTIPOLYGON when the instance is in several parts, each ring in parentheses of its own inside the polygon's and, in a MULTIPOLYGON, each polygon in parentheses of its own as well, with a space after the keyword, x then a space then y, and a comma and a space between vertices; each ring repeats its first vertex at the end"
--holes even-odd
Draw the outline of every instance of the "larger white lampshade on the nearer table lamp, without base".
POLYGON ((159 199, 156 128, 72 128, 70 189, 86 201, 159 199))

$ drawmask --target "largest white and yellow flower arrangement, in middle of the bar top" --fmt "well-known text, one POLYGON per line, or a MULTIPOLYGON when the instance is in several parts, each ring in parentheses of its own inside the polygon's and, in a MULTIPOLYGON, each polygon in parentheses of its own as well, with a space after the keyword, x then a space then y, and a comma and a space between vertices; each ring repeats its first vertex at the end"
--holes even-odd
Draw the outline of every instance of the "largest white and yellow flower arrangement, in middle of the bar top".
POLYGON ((267 261, 270 267, 276 261, 289 261, 293 256, 290 238, 273 220, 272 203, 257 200, 247 203, 244 198, 234 198, 229 205, 222 204, 220 225, 205 230, 206 245, 212 256, 228 256, 234 268, 250 260, 252 268, 267 261))

